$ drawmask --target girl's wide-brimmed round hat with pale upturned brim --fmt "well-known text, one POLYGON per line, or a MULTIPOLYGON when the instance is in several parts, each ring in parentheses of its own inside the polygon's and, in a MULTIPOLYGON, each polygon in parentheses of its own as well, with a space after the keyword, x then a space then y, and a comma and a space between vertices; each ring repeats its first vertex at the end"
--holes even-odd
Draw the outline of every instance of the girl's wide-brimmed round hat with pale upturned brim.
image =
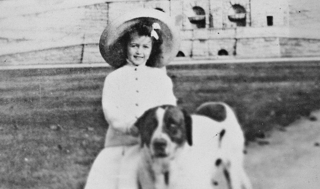
POLYGON ((156 67, 163 67, 177 55, 180 46, 179 29, 174 25, 172 17, 167 13, 156 9, 134 9, 134 11, 126 11, 115 20, 111 20, 104 29, 100 37, 100 53, 108 64, 113 67, 121 67, 126 57, 123 45, 119 45, 119 38, 123 36, 127 30, 141 20, 149 20, 158 23, 161 28, 161 37, 163 40, 160 49, 162 53, 156 58, 156 67))

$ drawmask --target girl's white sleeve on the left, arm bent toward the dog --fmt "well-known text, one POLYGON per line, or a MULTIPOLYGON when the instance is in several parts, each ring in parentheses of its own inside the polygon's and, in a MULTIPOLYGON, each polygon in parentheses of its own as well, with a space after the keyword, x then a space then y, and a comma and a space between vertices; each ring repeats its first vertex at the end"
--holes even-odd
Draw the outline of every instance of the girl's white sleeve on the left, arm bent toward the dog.
POLYGON ((122 133, 127 133, 136 121, 126 107, 121 106, 121 91, 117 81, 108 75, 102 91, 102 109, 109 127, 122 133))

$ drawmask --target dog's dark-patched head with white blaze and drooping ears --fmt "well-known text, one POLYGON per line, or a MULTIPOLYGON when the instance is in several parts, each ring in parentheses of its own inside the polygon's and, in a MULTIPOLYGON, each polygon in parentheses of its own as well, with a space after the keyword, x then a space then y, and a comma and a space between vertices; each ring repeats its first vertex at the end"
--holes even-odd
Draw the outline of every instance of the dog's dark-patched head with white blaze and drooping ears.
POLYGON ((172 105, 147 110, 135 123, 141 136, 141 146, 149 148, 155 158, 174 155, 186 142, 192 145, 190 115, 172 105))

